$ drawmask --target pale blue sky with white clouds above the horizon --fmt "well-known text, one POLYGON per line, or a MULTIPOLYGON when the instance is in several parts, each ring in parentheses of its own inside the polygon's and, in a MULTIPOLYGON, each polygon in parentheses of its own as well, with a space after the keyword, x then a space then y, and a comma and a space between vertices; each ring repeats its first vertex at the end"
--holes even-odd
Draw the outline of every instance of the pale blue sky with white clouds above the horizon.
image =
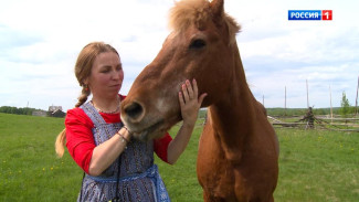
MULTIPOLYGON (((356 102, 359 76, 357 0, 226 0, 242 25, 236 40, 247 82, 266 107, 340 106, 356 102), (288 10, 332 10, 332 21, 288 21, 288 10)), ((92 41, 122 56, 127 94, 170 30, 172 0, 11 0, 0 2, 0 106, 72 108, 80 95, 73 66, 92 41)))

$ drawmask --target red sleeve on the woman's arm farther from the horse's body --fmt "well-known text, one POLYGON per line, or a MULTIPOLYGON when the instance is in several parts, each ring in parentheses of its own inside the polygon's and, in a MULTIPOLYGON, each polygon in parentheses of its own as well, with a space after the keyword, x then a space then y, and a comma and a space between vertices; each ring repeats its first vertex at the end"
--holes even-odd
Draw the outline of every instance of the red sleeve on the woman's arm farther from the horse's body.
POLYGON ((93 121, 82 108, 67 110, 65 118, 66 147, 75 162, 88 173, 89 162, 96 147, 93 121))

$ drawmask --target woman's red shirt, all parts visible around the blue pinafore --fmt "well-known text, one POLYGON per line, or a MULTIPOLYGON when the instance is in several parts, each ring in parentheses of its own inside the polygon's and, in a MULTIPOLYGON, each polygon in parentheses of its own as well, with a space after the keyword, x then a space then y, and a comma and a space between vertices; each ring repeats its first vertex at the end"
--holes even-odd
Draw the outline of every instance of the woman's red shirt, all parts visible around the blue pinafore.
MULTIPOLYGON (((120 121, 119 114, 99 114, 107 124, 120 121)), ((67 110, 65 126, 67 150, 75 162, 88 173, 91 158, 96 147, 92 132, 94 123, 82 108, 76 107, 67 110)), ((165 162, 168 162, 167 148, 171 140, 168 132, 163 138, 154 140, 154 150, 165 162)))

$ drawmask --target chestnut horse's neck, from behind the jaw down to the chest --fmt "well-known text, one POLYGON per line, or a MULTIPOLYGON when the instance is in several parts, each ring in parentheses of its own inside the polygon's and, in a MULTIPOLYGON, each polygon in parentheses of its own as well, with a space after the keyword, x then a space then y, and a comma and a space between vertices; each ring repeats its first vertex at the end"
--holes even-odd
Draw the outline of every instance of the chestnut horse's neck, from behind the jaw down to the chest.
POLYGON ((247 137, 253 134, 256 100, 245 79, 242 61, 237 53, 235 71, 229 95, 210 106, 211 124, 214 135, 221 142, 226 158, 237 161, 247 137))

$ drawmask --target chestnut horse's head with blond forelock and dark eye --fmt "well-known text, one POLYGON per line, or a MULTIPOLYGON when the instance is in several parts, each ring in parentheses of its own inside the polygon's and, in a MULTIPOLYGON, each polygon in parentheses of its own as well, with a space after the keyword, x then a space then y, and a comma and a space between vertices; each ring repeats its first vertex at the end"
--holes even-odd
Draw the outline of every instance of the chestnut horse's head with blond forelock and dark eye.
POLYGON ((208 93, 203 107, 219 102, 239 57, 233 50, 240 26, 224 13, 223 0, 177 2, 170 25, 173 31, 122 104, 122 119, 138 139, 159 138, 181 120, 178 93, 187 78, 208 93))

